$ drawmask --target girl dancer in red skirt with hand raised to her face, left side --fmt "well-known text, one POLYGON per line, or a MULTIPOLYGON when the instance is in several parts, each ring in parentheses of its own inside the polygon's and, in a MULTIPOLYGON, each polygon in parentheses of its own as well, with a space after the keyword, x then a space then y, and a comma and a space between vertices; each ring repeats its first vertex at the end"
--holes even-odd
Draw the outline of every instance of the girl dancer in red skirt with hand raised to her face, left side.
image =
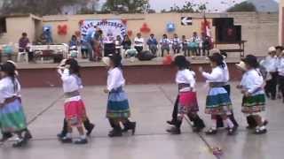
POLYGON ((67 59, 64 67, 59 68, 59 74, 63 82, 63 91, 66 97, 64 110, 67 120, 67 135, 61 138, 62 143, 72 143, 72 127, 76 127, 80 138, 75 144, 86 144, 88 142, 83 133, 83 120, 86 117, 86 110, 82 101, 79 89, 82 87, 80 78, 80 66, 75 59, 67 59))

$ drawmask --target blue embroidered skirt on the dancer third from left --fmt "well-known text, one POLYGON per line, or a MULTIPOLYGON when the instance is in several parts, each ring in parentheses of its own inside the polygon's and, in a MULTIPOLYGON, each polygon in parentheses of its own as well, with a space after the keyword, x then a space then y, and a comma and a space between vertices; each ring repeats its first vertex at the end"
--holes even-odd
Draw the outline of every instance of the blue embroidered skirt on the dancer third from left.
POLYGON ((107 118, 127 118, 130 117, 130 106, 126 93, 122 87, 112 90, 108 95, 107 118))

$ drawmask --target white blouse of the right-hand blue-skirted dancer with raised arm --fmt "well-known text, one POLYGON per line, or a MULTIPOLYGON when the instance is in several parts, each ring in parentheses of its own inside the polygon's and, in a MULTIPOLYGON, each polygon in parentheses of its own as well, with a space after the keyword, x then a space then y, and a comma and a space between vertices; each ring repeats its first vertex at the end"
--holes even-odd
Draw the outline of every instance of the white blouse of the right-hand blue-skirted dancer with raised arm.
POLYGON ((225 81, 225 69, 217 66, 212 69, 212 72, 202 72, 202 76, 207 79, 207 82, 224 82, 225 81))

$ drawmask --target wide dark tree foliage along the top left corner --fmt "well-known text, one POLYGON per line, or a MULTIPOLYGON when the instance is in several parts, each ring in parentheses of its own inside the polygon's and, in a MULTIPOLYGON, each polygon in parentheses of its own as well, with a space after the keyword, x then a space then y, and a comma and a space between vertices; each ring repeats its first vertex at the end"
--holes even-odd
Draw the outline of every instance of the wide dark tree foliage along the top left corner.
POLYGON ((4 0, 3 14, 33 13, 36 15, 60 14, 64 6, 86 5, 89 0, 4 0))

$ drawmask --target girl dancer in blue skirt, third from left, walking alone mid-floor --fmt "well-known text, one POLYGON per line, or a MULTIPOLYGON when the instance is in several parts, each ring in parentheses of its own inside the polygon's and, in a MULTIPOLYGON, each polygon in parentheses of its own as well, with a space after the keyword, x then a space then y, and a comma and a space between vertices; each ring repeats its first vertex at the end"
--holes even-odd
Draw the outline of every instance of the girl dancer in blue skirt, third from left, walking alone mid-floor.
POLYGON ((130 122, 130 107, 126 93, 123 91, 125 79, 122 74, 122 57, 120 55, 113 55, 103 59, 105 64, 109 67, 107 76, 107 86, 104 92, 108 94, 106 117, 109 120, 113 130, 108 133, 109 137, 122 136, 122 132, 136 130, 136 122, 130 122), (120 122, 124 125, 122 130, 120 122))

